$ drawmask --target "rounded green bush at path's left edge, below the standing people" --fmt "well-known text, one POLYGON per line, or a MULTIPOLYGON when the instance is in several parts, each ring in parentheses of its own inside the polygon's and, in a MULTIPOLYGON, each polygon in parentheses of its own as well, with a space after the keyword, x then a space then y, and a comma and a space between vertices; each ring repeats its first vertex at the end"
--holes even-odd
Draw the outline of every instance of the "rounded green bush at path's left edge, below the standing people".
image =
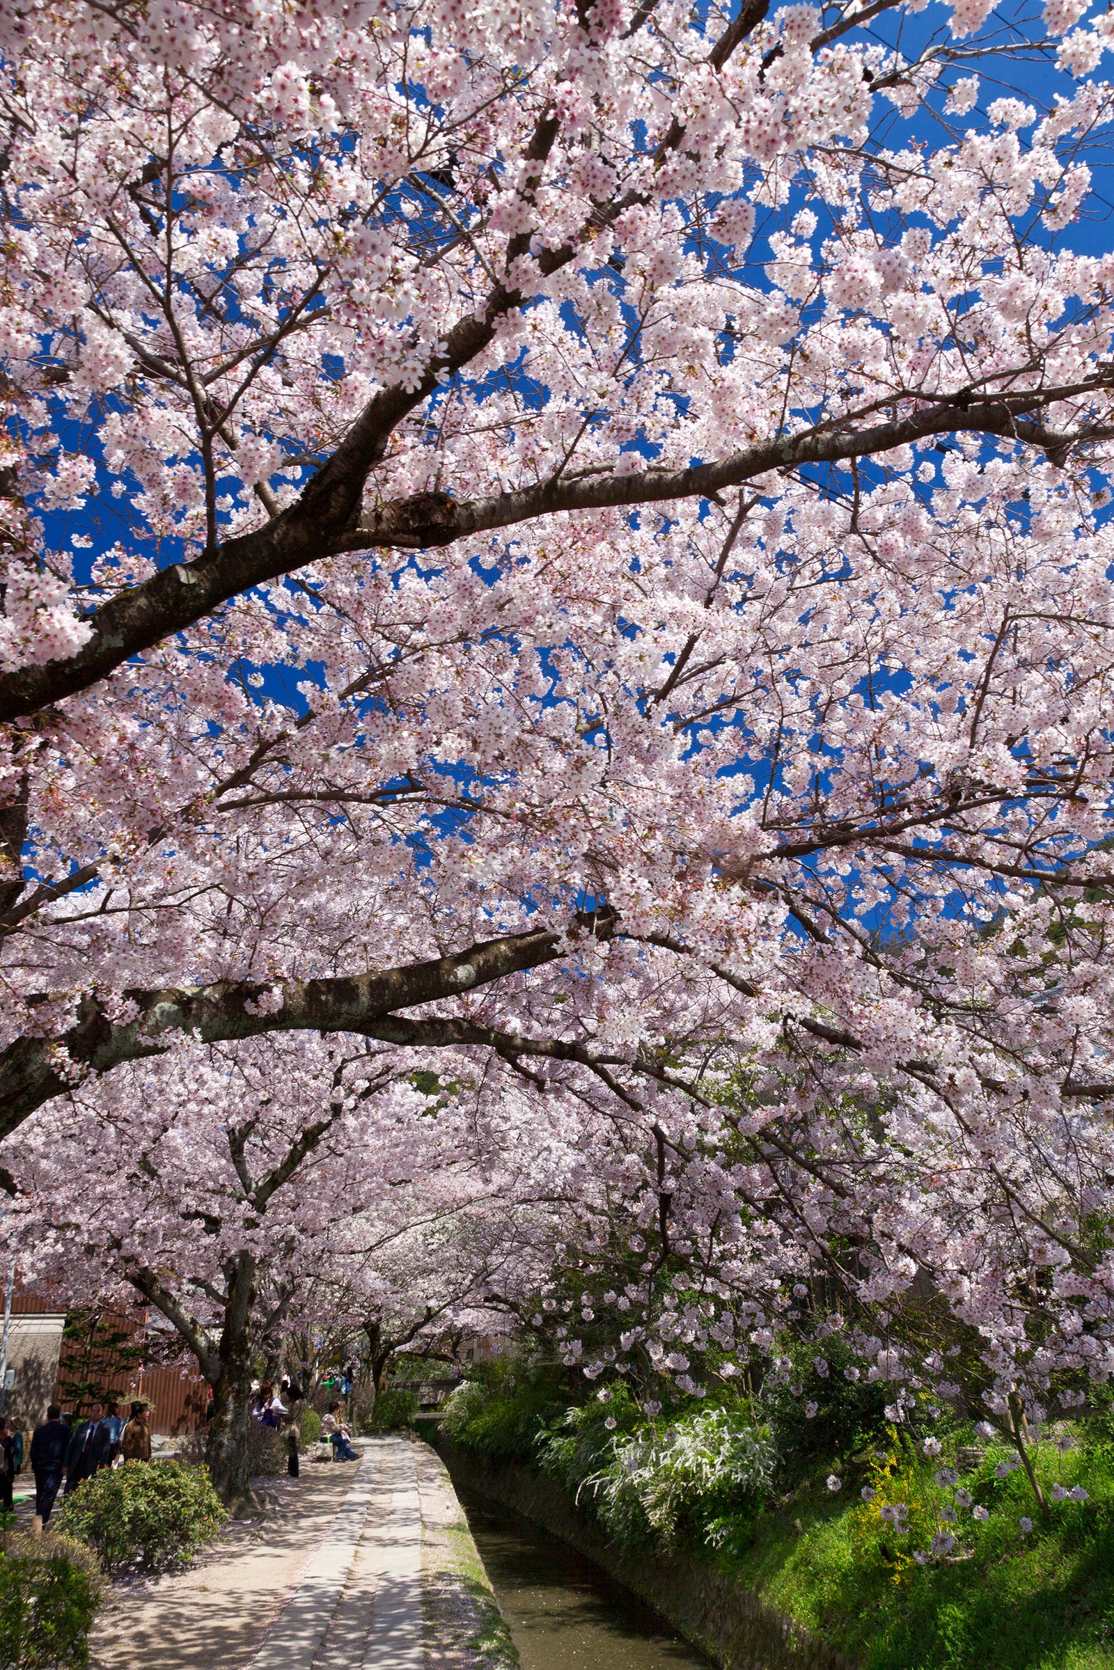
POLYGON ((204 1466, 125 1461, 87 1478, 58 1515, 58 1530, 94 1548, 109 1570, 162 1571, 212 1541, 227 1518, 204 1466))

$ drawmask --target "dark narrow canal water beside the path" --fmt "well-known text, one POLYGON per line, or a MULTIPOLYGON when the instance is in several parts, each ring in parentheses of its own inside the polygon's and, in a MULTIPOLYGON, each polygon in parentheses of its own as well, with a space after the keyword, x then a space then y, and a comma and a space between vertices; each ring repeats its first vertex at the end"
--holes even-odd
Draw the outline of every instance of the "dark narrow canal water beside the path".
POLYGON ((523 1670, 708 1670, 638 1595, 488 1496, 459 1490, 523 1670))

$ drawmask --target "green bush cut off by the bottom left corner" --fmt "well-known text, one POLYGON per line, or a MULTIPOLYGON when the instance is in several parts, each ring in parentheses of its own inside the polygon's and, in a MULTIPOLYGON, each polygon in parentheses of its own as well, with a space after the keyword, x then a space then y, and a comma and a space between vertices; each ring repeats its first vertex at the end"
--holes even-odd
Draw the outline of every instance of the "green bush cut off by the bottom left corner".
POLYGON ((85 1543, 57 1531, 8 1531, 0 1541, 0 1667, 89 1663, 102 1593, 100 1561, 85 1543))

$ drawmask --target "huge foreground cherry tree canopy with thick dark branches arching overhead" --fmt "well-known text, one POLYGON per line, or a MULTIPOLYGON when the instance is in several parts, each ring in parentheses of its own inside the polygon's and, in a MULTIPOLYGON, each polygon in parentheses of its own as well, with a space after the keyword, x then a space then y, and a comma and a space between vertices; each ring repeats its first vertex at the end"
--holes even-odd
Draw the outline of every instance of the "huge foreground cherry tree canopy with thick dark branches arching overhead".
POLYGON ((5 1134, 444 1055, 1109 1373, 1086 12, 0 10, 5 1134))

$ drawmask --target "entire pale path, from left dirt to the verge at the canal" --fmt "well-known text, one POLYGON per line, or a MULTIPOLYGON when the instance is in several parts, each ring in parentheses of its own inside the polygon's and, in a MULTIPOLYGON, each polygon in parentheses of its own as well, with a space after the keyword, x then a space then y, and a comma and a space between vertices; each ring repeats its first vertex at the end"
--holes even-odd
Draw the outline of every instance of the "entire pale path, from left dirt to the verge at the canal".
POLYGON ((518 1655, 439 1458, 357 1440, 359 1468, 274 1481, 190 1571, 115 1588, 94 1670, 514 1670, 518 1655))

